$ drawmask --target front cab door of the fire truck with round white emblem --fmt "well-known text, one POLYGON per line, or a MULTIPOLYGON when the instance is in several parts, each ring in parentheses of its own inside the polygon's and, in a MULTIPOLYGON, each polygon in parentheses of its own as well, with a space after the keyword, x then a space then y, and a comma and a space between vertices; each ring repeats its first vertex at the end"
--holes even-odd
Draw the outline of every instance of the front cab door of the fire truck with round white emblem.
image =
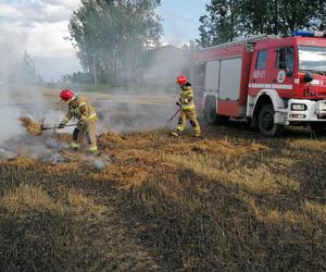
POLYGON ((276 50, 275 69, 273 69, 272 88, 281 97, 291 97, 293 88, 294 49, 283 47, 276 50))

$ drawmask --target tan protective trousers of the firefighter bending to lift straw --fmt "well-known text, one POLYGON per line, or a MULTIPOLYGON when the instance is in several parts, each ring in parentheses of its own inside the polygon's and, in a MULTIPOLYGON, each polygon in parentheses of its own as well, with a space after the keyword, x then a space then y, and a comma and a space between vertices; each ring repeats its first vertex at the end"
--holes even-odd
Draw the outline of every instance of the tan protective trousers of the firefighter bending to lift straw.
POLYGON ((98 146, 96 131, 96 122, 87 122, 83 125, 78 124, 73 133, 73 141, 71 143, 71 147, 74 149, 79 149, 85 136, 88 144, 88 151, 97 152, 98 146))

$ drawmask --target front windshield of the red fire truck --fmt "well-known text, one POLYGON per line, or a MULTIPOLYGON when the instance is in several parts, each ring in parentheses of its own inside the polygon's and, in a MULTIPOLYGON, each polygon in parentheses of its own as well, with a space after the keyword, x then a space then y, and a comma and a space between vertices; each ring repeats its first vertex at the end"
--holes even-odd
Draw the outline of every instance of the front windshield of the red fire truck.
POLYGON ((299 71, 326 74, 326 48, 299 46, 299 71))

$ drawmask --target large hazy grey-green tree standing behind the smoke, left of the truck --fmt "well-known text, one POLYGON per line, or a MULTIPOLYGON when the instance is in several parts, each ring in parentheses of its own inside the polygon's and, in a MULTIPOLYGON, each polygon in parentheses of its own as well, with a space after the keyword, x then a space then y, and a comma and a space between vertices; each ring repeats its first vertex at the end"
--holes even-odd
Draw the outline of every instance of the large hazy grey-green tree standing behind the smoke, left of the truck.
POLYGON ((82 0, 70 33, 85 71, 131 79, 141 53, 160 45, 159 0, 82 0), (93 61, 95 57, 95 61, 93 61))

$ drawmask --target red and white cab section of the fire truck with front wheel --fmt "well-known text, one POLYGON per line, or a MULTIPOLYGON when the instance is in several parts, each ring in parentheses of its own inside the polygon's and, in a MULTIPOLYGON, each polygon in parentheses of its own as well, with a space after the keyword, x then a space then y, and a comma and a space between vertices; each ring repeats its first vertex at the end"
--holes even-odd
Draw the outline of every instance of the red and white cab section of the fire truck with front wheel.
POLYGON ((255 45, 247 116, 263 134, 274 136, 298 124, 322 133, 325 99, 326 39, 293 36, 255 45))

